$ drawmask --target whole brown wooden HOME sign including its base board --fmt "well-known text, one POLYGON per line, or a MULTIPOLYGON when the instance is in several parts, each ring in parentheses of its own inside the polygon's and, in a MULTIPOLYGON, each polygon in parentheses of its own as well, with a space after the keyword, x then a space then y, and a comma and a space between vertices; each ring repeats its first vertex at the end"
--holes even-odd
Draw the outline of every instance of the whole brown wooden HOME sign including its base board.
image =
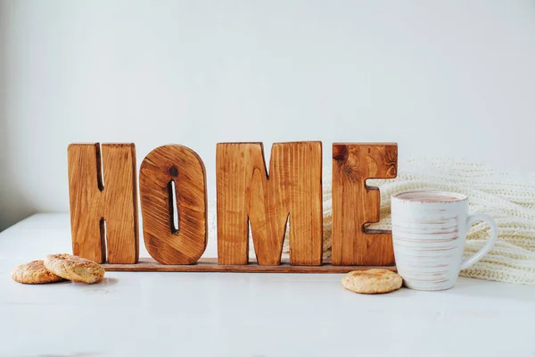
POLYGON ((269 170, 262 143, 217 145, 218 257, 212 259, 201 258, 208 241, 206 171, 192 149, 160 146, 141 163, 143 237, 152 259, 139 259, 136 146, 72 144, 68 156, 73 253, 103 263, 106 270, 395 270, 391 232, 365 225, 379 221, 381 201, 378 188, 366 186, 366 179, 396 177, 396 144, 333 144, 328 260, 322 259, 321 142, 273 145, 269 170), (287 222, 290 259, 285 262, 287 222), (254 262, 248 255, 250 227, 254 262))

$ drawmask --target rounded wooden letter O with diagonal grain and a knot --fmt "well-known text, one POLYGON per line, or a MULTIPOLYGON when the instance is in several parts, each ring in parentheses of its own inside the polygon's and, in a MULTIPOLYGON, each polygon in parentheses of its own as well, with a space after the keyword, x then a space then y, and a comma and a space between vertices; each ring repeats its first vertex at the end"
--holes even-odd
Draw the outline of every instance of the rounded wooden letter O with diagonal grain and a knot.
POLYGON ((139 188, 148 253, 162 264, 197 262, 208 237, 206 171, 201 157, 182 145, 160 146, 144 158, 139 188), (177 230, 173 199, 177 203, 177 230))

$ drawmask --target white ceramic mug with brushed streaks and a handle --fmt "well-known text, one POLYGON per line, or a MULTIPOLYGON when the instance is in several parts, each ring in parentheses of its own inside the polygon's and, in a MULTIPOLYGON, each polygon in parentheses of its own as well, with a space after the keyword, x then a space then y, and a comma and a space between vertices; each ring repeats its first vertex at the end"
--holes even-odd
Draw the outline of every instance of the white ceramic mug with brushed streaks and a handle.
POLYGON ((392 240, 398 273, 416 290, 453 287, 460 270, 489 253, 498 229, 487 214, 468 215, 468 197, 443 191, 409 191, 391 197, 392 240), (490 239, 481 250, 463 258, 466 233, 473 222, 490 225, 490 239))

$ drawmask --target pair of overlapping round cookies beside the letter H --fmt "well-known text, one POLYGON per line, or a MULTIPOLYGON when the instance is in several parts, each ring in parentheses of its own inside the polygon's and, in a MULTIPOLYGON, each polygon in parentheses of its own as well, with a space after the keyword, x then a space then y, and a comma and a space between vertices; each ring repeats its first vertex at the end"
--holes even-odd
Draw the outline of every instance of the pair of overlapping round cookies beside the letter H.
POLYGON ((102 266, 70 254, 50 254, 44 261, 21 264, 12 271, 12 279, 21 284, 45 284, 64 280, 95 284, 103 278, 102 266))

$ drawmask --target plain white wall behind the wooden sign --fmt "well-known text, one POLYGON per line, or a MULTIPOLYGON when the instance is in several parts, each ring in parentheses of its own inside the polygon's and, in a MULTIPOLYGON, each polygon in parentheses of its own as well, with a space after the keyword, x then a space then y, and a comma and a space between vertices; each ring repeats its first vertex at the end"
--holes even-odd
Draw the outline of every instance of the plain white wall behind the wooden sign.
MULTIPOLYGON (((67 145, 395 141, 535 170, 534 1, 0 0, 0 230, 68 211, 67 145)), ((213 199, 213 191, 210 191, 213 199)))

